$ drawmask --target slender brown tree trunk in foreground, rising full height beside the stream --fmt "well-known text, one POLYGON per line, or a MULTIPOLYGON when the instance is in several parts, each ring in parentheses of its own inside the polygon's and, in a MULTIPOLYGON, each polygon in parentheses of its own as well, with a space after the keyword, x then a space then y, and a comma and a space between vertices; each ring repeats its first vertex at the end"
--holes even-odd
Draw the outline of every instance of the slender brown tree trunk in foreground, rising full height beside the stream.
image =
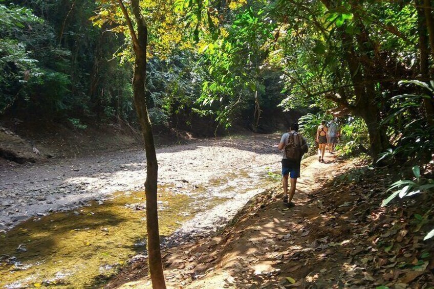
POLYGON ((160 233, 158 228, 157 211, 157 179, 158 163, 155 152, 154 136, 146 106, 146 48, 147 26, 141 15, 139 0, 131 0, 134 17, 137 24, 137 34, 129 18, 128 12, 122 0, 118 0, 122 12, 127 20, 134 43, 135 66, 133 76, 134 105, 136 106, 137 118, 142 128, 146 150, 146 229, 149 274, 154 289, 165 289, 166 284, 163 274, 163 264, 160 252, 160 233))

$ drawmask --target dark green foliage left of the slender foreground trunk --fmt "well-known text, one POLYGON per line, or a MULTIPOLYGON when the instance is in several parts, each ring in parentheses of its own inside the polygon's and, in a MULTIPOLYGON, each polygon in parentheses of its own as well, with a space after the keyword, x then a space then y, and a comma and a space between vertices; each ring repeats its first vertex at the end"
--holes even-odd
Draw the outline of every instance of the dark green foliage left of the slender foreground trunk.
POLYGON ((131 117, 131 66, 107 61, 123 39, 92 26, 94 2, 15 3, 0 4, 0 113, 131 117))

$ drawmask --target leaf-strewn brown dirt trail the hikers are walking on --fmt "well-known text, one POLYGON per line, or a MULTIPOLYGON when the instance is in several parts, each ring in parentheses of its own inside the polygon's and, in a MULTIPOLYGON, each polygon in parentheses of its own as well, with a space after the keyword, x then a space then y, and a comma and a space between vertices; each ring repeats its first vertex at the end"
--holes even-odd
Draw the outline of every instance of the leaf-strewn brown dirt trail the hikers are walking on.
MULTIPOLYGON (((275 262, 276 256, 270 254, 283 248, 278 238, 286 236, 290 232, 290 226, 297 224, 298 220, 318 214, 318 207, 310 202, 311 193, 320 189, 324 181, 333 179, 339 173, 338 166, 333 155, 327 155, 326 163, 319 163, 316 156, 308 158, 301 166, 301 177, 298 179, 293 199, 295 208, 289 210, 281 204, 283 192, 281 187, 277 186, 270 189, 274 191, 275 199, 271 207, 265 207, 264 202, 260 202, 261 195, 254 201, 257 206, 245 207, 243 221, 246 224, 238 225, 243 221, 237 220, 234 227, 228 227, 225 232, 213 238, 204 238, 194 245, 188 244, 166 251, 165 265, 168 269, 165 275, 168 286, 242 288, 252 285, 248 284, 247 276, 265 277, 268 281, 275 281, 269 277, 278 272, 278 263, 275 262), (203 277, 205 275, 206 277, 203 277), (192 282, 197 278, 197 281, 192 282)), ((284 253, 279 254, 278 259, 281 259, 284 253)), ((112 281, 109 287, 117 287, 128 279, 134 280, 140 274, 146 273, 140 273, 137 269, 132 269, 131 273, 126 271, 112 281)), ((263 281, 257 284, 262 284, 263 281)), ((145 278, 126 283, 122 288, 143 288, 149 284, 149 280, 145 278)))

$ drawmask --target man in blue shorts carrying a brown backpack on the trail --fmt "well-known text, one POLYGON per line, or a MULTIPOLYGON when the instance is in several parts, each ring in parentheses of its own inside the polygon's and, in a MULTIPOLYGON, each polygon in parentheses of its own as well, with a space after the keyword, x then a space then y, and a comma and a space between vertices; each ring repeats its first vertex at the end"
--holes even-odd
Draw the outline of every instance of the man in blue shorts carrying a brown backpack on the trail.
POLYGON ((282 184, 284 187, 284 204, 294 207, 292 197, 295 193, 297 178, 300 177, 300 163, 303 154, 309 147, 306 139, 298 133, 298 123, 292 123, 288 132, 283 134, 277 146, 279 150, 284 150, 282 159, 282 184), (288 195, 288 177, 291 179, 291 189, 288 195))

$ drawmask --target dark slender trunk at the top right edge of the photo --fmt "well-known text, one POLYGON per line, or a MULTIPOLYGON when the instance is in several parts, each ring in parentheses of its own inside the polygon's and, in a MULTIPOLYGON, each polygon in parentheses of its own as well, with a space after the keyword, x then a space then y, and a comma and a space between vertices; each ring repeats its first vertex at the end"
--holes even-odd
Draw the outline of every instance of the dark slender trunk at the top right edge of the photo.
MULTIPOLYGON (((419 0, 416 4, 421 5, 419 0)), ((423 79, 429 79, 429 52, 427 41, 426 17, 423 8, 417 8, 418 11, 418 32, 419 32, 419 52, 420 52, 420 72, 423 79)), ((425 108, 426 120, 429 125, 434 125, 434 104, 431 99, 424 98, 423 106, 425 108)))

